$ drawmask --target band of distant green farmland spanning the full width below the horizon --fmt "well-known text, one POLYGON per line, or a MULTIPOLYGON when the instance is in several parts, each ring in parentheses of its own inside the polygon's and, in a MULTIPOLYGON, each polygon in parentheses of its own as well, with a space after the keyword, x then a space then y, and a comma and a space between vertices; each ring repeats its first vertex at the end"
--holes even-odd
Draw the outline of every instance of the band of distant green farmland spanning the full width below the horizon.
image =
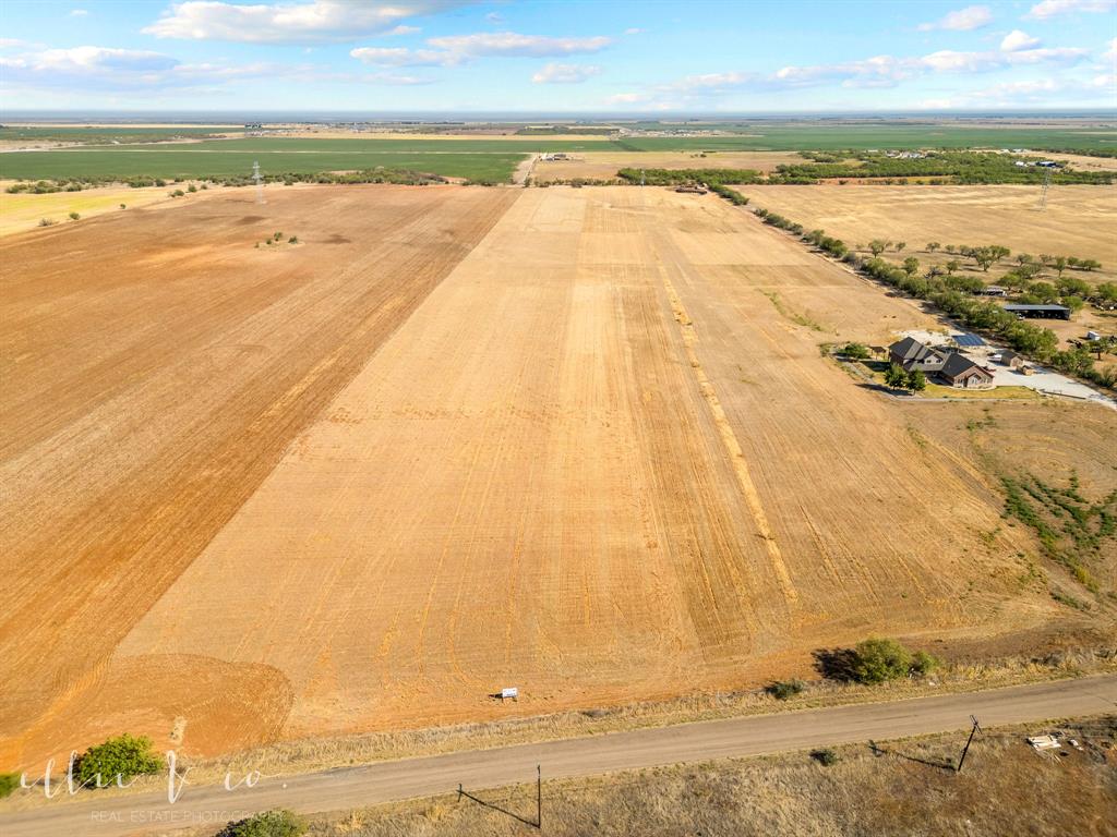
MULTIPOLYGON (((187 128, 188 129, 188 128, 187 128)), ((183 131, 187 131, 183 129, 183 131)), ((384 166, 450 177, 506 181, 526 154, 806 151, 915 147, 1027 147, 1117 151, 1107 128, 957 127, 953 125, 757 125, 720 136, 333 138, 246 137, 162 144, 101 145, 0 154, 0 177, 227 177, 247 174, 259 160, 266 174, 314 174, 384 166), (746 133, 747 132, 747 133, 746 133)), ((21 129, 27 131, 27 129, 21 129)), ((51 128, 57 132, 57 129, 51 128)), ((631 161, 632 165, 639 164, 631 161)))

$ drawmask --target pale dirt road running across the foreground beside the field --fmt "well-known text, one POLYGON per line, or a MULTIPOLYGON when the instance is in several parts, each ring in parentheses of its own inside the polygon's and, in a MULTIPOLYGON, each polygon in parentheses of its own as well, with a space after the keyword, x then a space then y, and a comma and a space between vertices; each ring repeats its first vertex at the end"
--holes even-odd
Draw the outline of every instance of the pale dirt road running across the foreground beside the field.
MULTIPOLYGON (((164 795, 74 802, 0 818, 0 830, 6 837, 150 834, 276 807, 314 814, 431 796, 452 791, 459 782, 478 791, 529 781, 536 764, 542 766, 545 778, 556 779, 963 730, 971 714, 992 727, 1098 714, 1115 708, 1117 675, 1105 675, 408 759, 264 779, 250 790, 232 792, 222 787, 188 788, 173 806, 164 795)), ((544 790, 544 816, 545 811, 544 790)))

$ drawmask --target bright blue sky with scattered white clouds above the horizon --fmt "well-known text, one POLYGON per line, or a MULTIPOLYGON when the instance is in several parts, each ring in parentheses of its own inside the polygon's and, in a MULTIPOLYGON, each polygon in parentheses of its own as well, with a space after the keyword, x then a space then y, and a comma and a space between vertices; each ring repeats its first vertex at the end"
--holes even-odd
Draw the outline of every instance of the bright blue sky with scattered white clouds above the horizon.
POLYGON ((6 109, 1117 108, 1117 0, 0 4, 6 109))

